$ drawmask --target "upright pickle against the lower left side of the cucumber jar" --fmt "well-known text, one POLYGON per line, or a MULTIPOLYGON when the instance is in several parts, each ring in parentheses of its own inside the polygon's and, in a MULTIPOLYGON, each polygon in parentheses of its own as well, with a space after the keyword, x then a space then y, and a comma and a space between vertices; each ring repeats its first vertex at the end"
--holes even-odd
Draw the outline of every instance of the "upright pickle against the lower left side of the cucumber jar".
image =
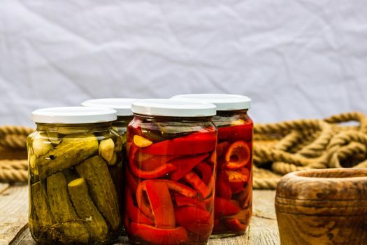
POLYGON ((55 223, 48 204, 45 184, 38 181, 31 185, 31 204, 29 229, 32 233, 42 235, 50 233, 50 227, 55 223))

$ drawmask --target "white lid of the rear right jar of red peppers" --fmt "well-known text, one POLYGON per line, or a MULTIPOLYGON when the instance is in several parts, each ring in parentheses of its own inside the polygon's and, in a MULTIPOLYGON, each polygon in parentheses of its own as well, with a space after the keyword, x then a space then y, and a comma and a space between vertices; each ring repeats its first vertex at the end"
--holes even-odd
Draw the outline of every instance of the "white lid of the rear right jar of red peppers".
POLYGON ((251 107, 251 99, 238 94, 180 94, 171 99, 213 103, 217 106, 217 111, 245 110, 251 107))

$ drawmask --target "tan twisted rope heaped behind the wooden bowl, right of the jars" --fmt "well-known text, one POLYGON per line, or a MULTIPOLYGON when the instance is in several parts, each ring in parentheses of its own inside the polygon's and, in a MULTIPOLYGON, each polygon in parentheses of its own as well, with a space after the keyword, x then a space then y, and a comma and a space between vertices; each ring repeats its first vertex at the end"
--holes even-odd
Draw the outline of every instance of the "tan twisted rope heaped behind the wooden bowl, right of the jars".
POLYGON ((324 120, 257 124, 254 134, 254 167, 257 169, 254 188, 275 189, 282 175, 298 170, 367 167, 364 113, 341 113, 324 120), (350 121, 358 125, 345 125, 350 121), (264 169, 267 172, 259 171, 261 167, 267 168, 264 169), (269 178, 268 172, 276 175, 269 178))

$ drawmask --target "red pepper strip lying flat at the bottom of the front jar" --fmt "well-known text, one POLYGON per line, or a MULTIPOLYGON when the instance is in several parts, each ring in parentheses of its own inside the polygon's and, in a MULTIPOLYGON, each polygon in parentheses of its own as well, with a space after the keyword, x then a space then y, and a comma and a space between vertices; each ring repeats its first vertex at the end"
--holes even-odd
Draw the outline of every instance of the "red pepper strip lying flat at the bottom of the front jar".
POLYGON ((141 237, 151 244, 175 245, 185 243, 189 239, 186 229, 182 226, 174 229, 159 229, 151 225, 131 222, 130 232, 134 237, 141 237))

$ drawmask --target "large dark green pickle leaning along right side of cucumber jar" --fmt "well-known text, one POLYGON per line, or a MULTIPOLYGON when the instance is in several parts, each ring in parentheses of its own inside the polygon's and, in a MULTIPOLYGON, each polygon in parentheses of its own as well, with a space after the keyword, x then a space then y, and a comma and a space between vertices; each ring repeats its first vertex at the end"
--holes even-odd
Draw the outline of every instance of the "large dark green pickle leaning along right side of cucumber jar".
POLYGON ((94 204, 113 230, 120 228, 120 209, 113 179, 108 172, 107 163, 99 156, 75 166, 76 171, 87 181, 89 193, 94 204))

